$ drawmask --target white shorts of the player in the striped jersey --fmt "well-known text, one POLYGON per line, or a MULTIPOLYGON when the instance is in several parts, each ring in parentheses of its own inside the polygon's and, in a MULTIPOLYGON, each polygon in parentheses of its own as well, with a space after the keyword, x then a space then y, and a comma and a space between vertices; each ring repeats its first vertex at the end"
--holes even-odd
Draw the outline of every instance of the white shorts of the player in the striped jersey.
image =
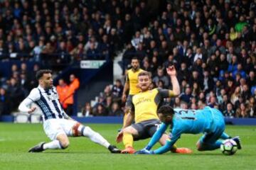
POLYGON ((72 136, 72 128, 78 123, 74 120, 68 119, 48 119, 43 123, 43 130, 50 140, 56 140, 57 136, 60 134, 65 134, 67 136, 72 136))

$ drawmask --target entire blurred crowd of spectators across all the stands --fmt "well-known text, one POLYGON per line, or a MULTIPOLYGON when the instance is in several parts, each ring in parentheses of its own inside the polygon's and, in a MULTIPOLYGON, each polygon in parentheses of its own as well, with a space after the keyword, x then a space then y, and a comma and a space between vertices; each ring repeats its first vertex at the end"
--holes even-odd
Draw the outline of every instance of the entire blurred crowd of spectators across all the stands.
MULTIPOLYGON (((149 14, 149 2, 1 0, 0 60, 63 69, 108 60, 125 47, 122 74, 136 56, 153 87, 171 89, 165 69, 175 65, 181 95, 162 104, 255 117, 256 0, 165 1, 158 17, 149 14)), ((0 76, 0 113, 9 109, 4 102, 16 106, 36 84, 25 66, 13 67, 11 77, 0 76)), ((107 86, 95 106, 86 103, 84 115, 122 115, 122 83, 107 86)))

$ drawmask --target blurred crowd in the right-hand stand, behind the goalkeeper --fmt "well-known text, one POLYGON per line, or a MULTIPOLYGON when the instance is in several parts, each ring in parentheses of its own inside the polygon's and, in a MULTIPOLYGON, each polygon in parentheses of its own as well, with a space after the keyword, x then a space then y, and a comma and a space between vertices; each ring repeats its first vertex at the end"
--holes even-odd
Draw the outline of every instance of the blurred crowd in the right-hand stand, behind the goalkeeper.
MULTIPOLYGON (((255 11, 256 1, 170 1, 126 45, 123 74, 136 56, 151 72, 153 87, 171 89, 165 69, 174 64, 181 95, 161 104, 211 106, 229 118, 256 117, 255 11)), ((106 109, 109 96, 98 102, 106 109)))

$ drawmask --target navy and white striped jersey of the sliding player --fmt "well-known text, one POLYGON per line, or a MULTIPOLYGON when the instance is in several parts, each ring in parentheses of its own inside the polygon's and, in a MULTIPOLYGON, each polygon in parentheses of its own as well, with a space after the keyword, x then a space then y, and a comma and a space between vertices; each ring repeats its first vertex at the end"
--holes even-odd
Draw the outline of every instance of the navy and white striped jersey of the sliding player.
POLYGON ((31 93, 27 97, 34 103, 36 103, 43 112, 43 120, 52 118, 65 118, 65 112, 60 106, 58 93, 53 86, 51 89, 43 89, 41 86, 31 90, 31 93))

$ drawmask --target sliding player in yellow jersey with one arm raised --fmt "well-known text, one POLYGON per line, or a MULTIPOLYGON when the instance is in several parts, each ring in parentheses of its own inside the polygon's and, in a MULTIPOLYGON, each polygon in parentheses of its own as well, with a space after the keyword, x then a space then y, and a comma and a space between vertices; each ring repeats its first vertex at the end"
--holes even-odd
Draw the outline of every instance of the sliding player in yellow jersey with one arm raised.
MULTIPOLYGON (((132 97, 132 112, 127 114, 124 126, 117 135, 117 142, 123 141, 125 149, 124 154, 133 154, 136 152, 133 148, 134 140, 143 140, 154 135, 157 128, 161 124, 159 117, 156 114, 157 107, 163 98, 174 97, 180 94, 178 80, 176 78, 176 70, 174 66, 166 69, 167 74, 171 77, 173 91, 167 89, 152 89, 149 90, 151 84, 151 75, 149 72, 140 72, 138 75, 138 86, 141 89, 139 94, 132 97), (135 111, 135 112, 134 112, 135 111), (135 123, 132 124, 132 121, 135 123)), ((168 135, 164 134, 159 137, 161 145, 165 145, 168 135)), ((170 148, 171 149, 171 148, 170 148)), ((169 150, 170 150, 169 149, 169 150)), ((190 153, 187 148, 172 148, 172 152, 190 153)))

